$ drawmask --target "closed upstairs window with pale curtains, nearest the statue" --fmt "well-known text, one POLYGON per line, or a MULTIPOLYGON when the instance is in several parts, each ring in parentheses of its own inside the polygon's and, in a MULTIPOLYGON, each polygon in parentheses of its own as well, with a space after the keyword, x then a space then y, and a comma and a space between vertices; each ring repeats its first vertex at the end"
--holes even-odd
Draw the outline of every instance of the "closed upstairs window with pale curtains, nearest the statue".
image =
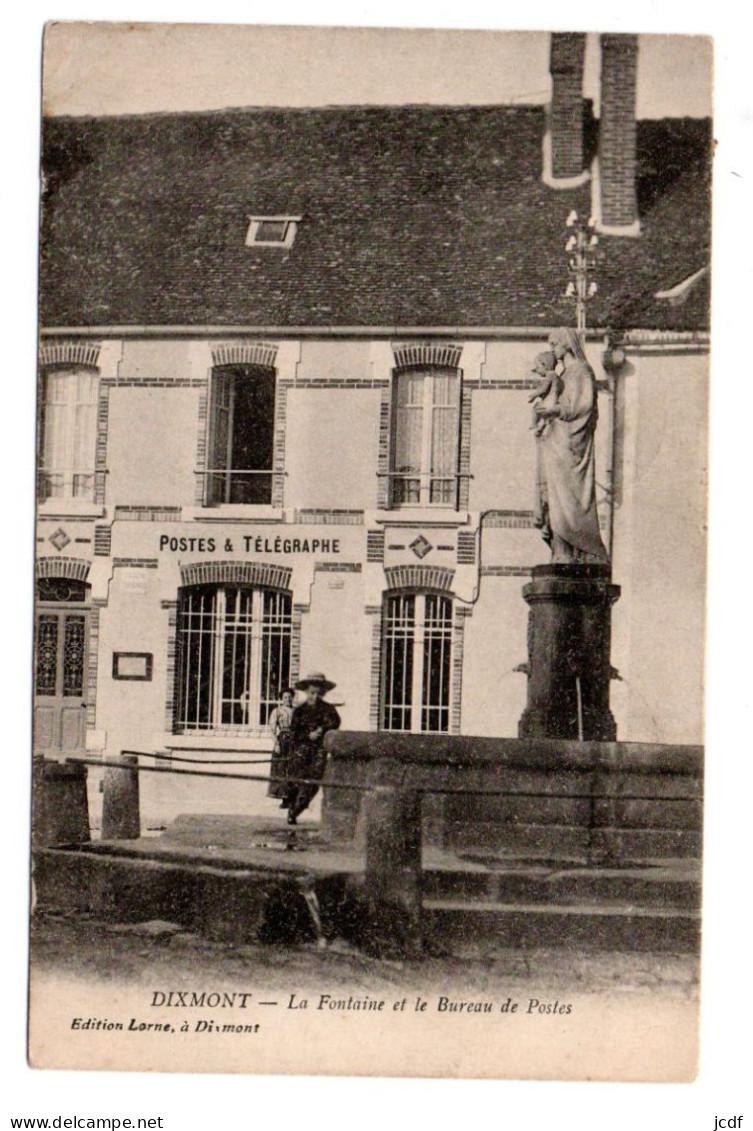
POLYGON ((455 369, 406 370, 395 379, 393 507, 456 507, 460 378, 455 369))

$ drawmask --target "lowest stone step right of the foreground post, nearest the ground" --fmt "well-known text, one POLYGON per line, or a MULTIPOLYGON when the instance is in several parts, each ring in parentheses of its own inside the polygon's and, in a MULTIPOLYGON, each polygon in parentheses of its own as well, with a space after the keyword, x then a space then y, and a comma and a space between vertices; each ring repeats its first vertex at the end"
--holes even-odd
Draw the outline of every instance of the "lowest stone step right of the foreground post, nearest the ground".
POLYGON ((623 903, 592 905, 425 899, 424 941, 450 952, 468 947, 694 952, 700 915, 623 903))

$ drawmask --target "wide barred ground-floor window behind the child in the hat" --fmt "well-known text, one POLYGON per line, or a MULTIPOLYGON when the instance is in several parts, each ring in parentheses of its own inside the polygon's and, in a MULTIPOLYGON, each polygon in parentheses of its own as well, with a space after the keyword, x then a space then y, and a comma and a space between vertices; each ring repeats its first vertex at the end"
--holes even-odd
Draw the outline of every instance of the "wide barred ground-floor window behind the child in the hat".
POLYGON ((291 677, 292 598, 277 589, 183 589, 176 731, 265 726, 291 677))

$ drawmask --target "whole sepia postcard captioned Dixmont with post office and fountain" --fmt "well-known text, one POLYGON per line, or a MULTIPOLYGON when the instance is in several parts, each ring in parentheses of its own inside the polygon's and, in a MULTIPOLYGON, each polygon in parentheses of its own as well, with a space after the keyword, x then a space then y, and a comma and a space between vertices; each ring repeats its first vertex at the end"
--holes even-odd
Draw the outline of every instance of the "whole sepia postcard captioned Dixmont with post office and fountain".
POLYGON ((43 72, 31 1063, 692 1079, 711 41, 43 72))

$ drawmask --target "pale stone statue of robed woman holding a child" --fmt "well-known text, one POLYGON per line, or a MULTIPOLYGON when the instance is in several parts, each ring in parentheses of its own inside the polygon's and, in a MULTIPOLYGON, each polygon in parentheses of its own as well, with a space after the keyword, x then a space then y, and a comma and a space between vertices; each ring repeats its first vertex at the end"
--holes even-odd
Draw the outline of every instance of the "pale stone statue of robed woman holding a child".
POLYGON ((536 415, 548 422, 536 435, 534 521, 552 547, 553 562, 607 562, 596 515, 596 378, 575 330, 555 330, 549 348, 562 366, 561 385, 555 403, 545 397, 534 404, 536 415))

